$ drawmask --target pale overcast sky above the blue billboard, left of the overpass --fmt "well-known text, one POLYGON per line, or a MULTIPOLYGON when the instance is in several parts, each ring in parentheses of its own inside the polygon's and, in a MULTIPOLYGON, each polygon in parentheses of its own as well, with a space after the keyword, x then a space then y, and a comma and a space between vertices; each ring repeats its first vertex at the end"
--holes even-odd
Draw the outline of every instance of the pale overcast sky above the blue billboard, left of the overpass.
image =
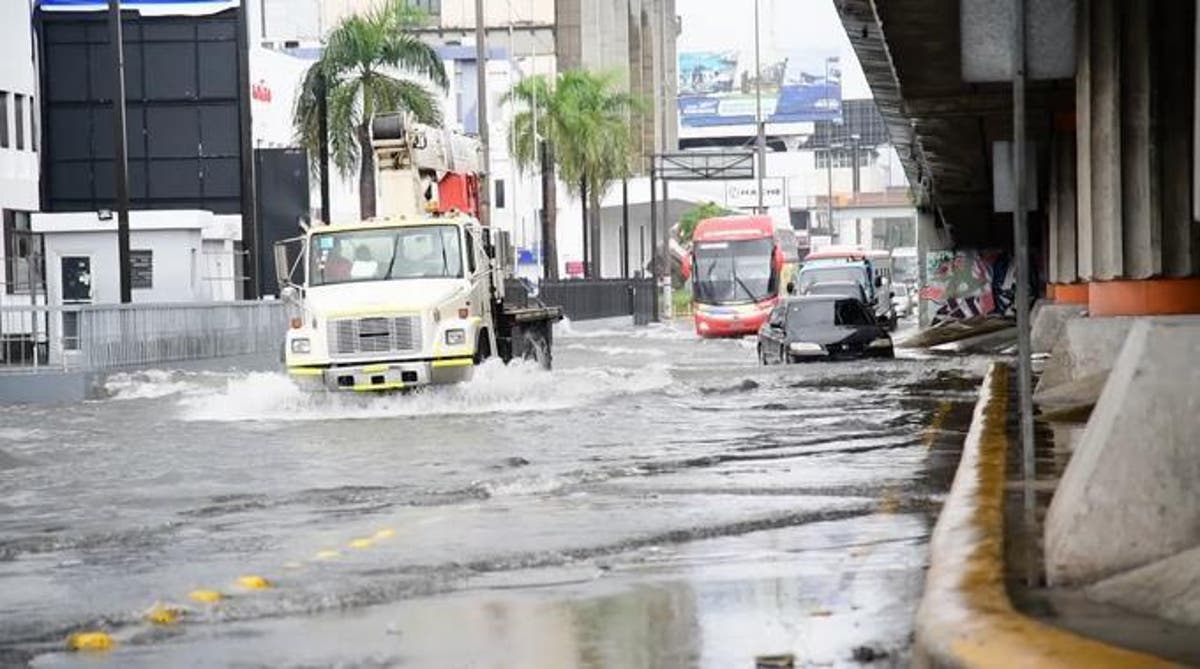
MULTIPOLYGON (((676 0, 680 52, 737 50, 754 59, 754 1, 676 0)), ((833 0, 758 0, 762 62, 784 52, 841 58, 842 97, 871 97, 833 0)))

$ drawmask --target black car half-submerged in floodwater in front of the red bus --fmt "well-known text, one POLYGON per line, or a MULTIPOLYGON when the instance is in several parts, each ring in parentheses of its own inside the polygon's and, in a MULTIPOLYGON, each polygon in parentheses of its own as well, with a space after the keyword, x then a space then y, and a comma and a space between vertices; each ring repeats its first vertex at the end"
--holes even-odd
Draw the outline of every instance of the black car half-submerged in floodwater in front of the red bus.
POLYGON ((780 302, 758 330, 763 364, 844 357, 895 357, 892 337, 858 300, 791 297, 780 302))

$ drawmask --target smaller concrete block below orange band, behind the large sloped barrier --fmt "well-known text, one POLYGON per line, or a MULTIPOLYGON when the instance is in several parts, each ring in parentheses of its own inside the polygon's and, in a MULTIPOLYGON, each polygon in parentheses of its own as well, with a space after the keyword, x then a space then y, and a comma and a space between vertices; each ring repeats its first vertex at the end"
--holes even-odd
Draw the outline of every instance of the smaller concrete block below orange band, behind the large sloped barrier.
POLYGON ((1067 320, 1058 342, 1050 351, 1037 392, 1106 373, 1121 351, 1133 318, 1080 318, 1067 320))

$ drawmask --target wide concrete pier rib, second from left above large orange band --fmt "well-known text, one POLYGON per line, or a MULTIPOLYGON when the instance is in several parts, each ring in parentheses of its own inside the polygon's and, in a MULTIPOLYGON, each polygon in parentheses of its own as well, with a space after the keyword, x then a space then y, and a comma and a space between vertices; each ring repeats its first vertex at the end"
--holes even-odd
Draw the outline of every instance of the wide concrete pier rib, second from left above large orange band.
POLYGON ((1121 253, 1120 0, 1091 2, 1092 278, 1124 271, 1121 253))

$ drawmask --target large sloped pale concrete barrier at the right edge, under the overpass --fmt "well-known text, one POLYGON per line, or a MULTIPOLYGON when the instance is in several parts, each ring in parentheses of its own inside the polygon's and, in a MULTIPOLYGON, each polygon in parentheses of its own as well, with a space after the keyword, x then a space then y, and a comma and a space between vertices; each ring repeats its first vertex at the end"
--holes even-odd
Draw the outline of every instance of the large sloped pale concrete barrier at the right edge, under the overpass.
POLYGON ((1046 514, 1051 585, 1200 547, 1196 361, 1200 317, 1132 326, 1046 514))

